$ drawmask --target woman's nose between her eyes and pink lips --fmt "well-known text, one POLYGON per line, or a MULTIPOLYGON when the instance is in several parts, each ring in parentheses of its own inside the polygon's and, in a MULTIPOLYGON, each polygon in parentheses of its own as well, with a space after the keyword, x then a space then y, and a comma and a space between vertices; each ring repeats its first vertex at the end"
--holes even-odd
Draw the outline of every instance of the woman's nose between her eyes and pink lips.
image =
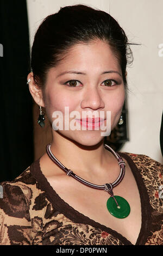
POLYGON ((104 108, 104 102, 102 100, 102 93, 99 88, 89 88, 83 95, 81 103, 82 108, 91 108, 96 110, 98 108, 104 108))

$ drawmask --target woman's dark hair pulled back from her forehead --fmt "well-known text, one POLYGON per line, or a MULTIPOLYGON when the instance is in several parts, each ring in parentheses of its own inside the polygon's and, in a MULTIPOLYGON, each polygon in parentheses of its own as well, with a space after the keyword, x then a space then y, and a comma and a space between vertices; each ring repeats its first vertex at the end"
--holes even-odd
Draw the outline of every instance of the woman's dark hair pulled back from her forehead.
POLYGON ((37 29, 32 46, 31 67, 35 83, 44 88, 47 72, 66 56, 76 44, 89 44, 101 39, 116 54, 127 88, 126 66, 133 62, 130 43, 118 22, 105 11, 77 4, 60 8, 58 13, 47 16, 37 29))

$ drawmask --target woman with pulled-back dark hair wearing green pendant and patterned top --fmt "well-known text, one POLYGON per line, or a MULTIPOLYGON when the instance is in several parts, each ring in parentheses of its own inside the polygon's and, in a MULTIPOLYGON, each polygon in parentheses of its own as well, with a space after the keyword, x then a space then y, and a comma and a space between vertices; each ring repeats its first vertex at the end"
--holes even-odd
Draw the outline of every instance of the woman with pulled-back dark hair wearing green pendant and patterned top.
POLYGON ((44 107, 53 139, 20 176, 1 184, 2 245, 163 244, 162 165, 115 153, 101 133, 122 121, 130 58, 126 34, 104 11, 74 5, 41 23, 27 83, 38 123, 46 121, 44 107))

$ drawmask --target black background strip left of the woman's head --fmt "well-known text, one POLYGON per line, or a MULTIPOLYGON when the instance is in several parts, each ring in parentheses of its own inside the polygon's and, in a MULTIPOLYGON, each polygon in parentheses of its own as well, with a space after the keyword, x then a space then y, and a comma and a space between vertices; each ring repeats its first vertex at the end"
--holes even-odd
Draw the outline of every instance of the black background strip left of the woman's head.
POLYGON ((16 178, 33 162, 29 33, 25 0, 0 0, 0 182, 16 178))

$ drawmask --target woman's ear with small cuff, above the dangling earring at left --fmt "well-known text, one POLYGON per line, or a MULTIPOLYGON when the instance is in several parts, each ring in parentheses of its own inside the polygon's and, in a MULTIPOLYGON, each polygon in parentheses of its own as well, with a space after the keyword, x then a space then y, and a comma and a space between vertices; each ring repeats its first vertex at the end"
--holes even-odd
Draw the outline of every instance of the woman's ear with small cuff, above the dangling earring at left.
POLYGON ((37 86, 37 84, 34 81, 33 78, 33 72, 30 72, 27 76, 27 80, 29 80, 30 78, 30 82, 29 82, 29 91, 30 94, 32 95, 34 101, 37 103, 37 105, 41 106, 41 107, 45 107, 45 103, 43 102, 43 94, 42 94, 42 89, 37 86))

